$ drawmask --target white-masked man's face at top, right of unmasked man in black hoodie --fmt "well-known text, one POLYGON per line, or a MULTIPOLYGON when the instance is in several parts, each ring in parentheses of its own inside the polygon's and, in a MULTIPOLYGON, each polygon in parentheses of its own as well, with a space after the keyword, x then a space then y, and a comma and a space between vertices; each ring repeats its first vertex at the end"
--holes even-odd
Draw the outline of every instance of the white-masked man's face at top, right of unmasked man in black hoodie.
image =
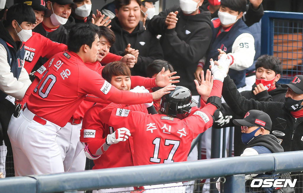
POLYGON ((156 15, 155 2, 159 0, 142 0, 141 18, 140 21, 145 22, 145 28, 147 28, 149 20, 156 15))

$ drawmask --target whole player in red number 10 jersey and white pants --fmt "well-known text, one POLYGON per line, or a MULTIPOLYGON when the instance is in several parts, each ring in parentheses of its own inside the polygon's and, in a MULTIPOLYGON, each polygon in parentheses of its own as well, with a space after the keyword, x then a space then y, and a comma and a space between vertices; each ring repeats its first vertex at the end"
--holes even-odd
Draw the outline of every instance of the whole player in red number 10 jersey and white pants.
MULTIPOLYGON (((17 118, 12 116, 9 125, 16 175, 64 172, 55 138, 86 94, 134 104, 151 102, 174 89, 168 85, 159 92, 132 93, 112 87, 84 64, 97 60, 100 49, 97 31, 94 25, 76 24, 69 34, 69 51, 55 54, 48 60, 47 68, 37 70, 40 81, 36 78, 29 87, 26 107, 17 118)), ((175 82, 174 78, 164 75, 163 83, 175 82)))

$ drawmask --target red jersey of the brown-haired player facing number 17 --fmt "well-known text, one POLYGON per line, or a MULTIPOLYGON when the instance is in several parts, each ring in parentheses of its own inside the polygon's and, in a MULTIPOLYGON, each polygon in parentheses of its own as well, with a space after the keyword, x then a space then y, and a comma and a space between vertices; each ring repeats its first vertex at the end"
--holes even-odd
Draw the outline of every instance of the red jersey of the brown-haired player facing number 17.
MULTIPOLYGON (((100 148, 105 143, 107 135, 112 134, 117 129, 101 122, 98 113, 105 106, 104 104, 96 104, 85 113, 80 132, 80 141, 87 143, 88 150, 93 155, 100 155, 102 153, 100 158, 94 160, 95 166, 93 169, 134 165, 134 142, 132 136, 127 141, 113 144, 106 151, 100 152, 102 150, 100 148)), ((130 105, 125 107, 125 109, 148 114, 143 104, 130 105)))

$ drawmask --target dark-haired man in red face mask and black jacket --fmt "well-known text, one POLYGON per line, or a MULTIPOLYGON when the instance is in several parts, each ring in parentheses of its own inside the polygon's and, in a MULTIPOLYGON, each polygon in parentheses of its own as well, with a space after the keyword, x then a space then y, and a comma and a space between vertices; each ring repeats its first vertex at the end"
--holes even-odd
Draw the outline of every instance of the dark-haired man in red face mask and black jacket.
MULTIPOLYGON (((255 99, 258 101, 285 102, 285 93, 287 89, 277 83, 282 73, 281 61, 274 56, 262 55, 256 61, 255 70, 256 81, 252 86, 252 90, 242 91, 241 95, 247 99, 255 99)), ((222 103, 220 111, 220 117, 213 125, 215 128, 234 126, 231 120, 241 118, 226 103, 222 103)), ((240 128, 235 126, 234 138, 240 139, 240 137, 240 128)), ((234 144, 234 155, 239 156, 245 146, 240 140, 235 140, 234 144)))

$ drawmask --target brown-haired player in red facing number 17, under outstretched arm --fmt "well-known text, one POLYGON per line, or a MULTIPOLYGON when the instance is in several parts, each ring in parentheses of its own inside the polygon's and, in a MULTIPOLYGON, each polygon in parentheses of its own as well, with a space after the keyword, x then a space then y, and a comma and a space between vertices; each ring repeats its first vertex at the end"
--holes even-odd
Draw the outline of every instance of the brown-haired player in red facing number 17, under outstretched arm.
MULTIPOLYGON (((102 77, 104 77, 105 80, 110 82, 119 90, 131 89, 131 72, 129 68, 121 62, 113 62, 107 64, 102 70, 102 77)), ((137 87, 135 89, 137 89, 137 87)), ((148 106, 145 106, 144 104, 130 105, 127 106, 126 109, 148 113, 146 110, 147 107, 154 108, 152 106, 152 103, 148 103, 146 105, 148 106)), ((105 143, 106 137, 109 134, 115 132, 115 128, 110 125, 103 124, 98 117, 99 111, 102 110, 105 106, 107 106, 107 104, 96 104, 85 113, 80 141, 86 143, 88 149, 86 148, 85 151, 88 151, 88 153, 93 152, 93 154, 96 154, 101 144, 105 143), (94 134, 95 138, 91 138, 86 135, 86 133, 89 133, 92 130, 96 130, 94 134)), ((112 146, 111 149, 104 152, 104 154, 102 154, 99 159, 95 159, 95 166, 93 169, 133 165, 132 153, 134 145, 132 144, 131 138, 129 139, 130 140, 128 142, 119 143, 115 146, 112 146), (118 159, 117 151, 119 149, 123 149, 124 153, 119 155, 118 159)))

